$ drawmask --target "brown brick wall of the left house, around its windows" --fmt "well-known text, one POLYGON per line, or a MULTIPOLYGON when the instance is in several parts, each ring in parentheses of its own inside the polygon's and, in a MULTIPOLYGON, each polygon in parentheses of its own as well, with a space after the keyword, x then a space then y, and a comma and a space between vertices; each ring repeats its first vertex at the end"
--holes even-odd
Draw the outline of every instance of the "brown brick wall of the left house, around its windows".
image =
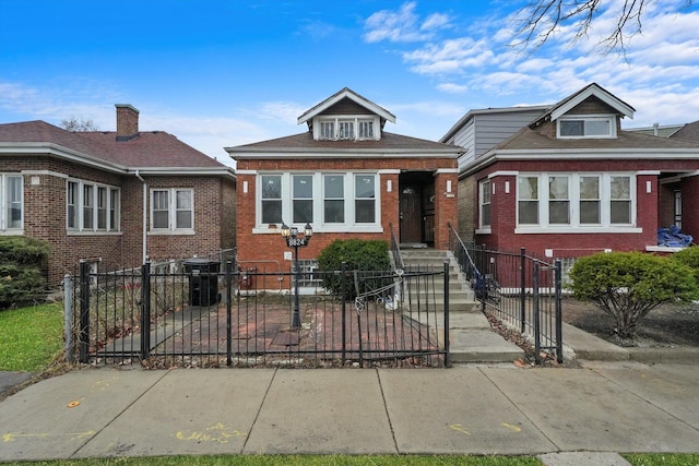
MULTIPOLYGON (((50 286, 58 285, 66 274, 74 274, 80 260, 99 261, 100 270, 142 263, 143 191, 135 176, 109 174, 51 157, 3 159, 3 172, 21 170, 29 171, 24 176, 24 235, 50 244, 47 276, 50 286), (121 188, 120 232, 67 231, 67 177, 121 188)), ((157 187, 193 188, 196 201, 197 235, 150 235, 151 258, 186 258, 234 247, 233 181, 215 177, 153 177, 146 181, 157 187)))

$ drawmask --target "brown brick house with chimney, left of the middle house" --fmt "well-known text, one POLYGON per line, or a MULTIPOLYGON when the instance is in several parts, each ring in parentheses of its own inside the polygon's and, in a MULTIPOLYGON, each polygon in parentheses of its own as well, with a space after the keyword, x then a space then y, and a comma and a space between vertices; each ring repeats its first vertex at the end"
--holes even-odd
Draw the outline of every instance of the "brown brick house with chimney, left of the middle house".
POLYGON ((116 107, 116 132, 0 124, 0 235, 48 241, 51 286, 80 260, 111 271, 235 246, 233 169, 116 107))

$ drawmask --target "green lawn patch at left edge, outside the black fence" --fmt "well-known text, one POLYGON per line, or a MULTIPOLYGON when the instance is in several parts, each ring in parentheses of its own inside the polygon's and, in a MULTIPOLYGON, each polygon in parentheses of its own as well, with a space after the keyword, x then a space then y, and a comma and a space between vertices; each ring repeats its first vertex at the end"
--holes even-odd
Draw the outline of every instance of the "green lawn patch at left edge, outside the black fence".
POLYGON ((63 304, 0 311, 0 370, 44 370, 63 345, 63 304))

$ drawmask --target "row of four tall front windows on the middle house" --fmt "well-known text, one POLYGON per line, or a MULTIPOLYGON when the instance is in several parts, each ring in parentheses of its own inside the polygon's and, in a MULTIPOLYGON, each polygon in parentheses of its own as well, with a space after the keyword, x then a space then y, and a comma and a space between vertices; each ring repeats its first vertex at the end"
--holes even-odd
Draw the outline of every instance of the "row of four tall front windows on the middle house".
POLYGON ((257 228, 286 223, 316 231, 377 231, 381 228, 376 172, 260 174, 257 228))

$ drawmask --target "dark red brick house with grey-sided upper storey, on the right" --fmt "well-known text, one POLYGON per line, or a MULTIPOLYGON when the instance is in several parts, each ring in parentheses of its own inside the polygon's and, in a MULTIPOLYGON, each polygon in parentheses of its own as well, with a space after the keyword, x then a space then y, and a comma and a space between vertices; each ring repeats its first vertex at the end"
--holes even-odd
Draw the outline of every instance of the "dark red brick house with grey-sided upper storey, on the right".
POLYGON ((655 251, 676 196, 698 238, 699 144, 621 130, 633 111, 593 83, 543 109, 469 112, 440 140, 465 148, 462 238, 549 259, 655 251))

